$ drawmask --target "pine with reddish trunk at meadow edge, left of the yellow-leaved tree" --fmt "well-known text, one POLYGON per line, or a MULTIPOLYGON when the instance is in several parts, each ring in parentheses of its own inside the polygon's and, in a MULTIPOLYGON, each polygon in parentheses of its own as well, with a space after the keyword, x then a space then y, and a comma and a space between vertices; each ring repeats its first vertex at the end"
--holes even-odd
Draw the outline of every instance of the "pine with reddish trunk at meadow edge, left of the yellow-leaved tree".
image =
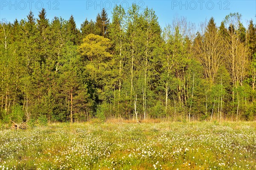
POLYGON ((79 120, 79 113, 85 111, 89 95, 87 85, 83 79, 83 67, 81 57, 77 54, 76 45, 67 42, 63 48, 64 59, 60 68, 58 85, 66 103, 70 122, 79 120))

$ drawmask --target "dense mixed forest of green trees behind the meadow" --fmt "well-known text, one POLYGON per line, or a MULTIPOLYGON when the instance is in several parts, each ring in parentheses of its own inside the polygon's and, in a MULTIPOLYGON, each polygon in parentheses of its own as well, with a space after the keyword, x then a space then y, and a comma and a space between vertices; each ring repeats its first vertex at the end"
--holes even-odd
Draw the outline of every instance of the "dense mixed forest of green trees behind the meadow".
MULTIPOLYGON (((253 17, 253 16, 252 16, 253 17)), ((256 120, 256 25, 200 28, 153 9, 103 9, 79 29, 30 13, 0 23, 0 121, 256 120)))

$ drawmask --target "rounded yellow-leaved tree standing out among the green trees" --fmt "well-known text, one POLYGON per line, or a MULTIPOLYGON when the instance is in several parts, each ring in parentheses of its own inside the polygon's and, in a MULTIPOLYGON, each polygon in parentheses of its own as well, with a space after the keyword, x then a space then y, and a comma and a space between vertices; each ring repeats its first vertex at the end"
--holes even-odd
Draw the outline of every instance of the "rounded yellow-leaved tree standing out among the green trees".
POLYGON ((79 46, 79 52, 86 61, 86 69, 90 72, 90 79, 97 89, 99 101, 105 97, 105 88, 111 83, 111 58, 109 53, 111 41, 99 35, 89 34, 79 46))

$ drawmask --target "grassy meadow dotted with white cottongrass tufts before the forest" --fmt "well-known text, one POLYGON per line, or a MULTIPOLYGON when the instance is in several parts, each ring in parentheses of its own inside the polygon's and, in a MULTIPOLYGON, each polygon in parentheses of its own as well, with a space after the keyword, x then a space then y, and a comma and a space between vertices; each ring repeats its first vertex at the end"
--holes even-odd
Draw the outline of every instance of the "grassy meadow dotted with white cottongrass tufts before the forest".
POLYGON ((80 123, 1 130, 0 169, 253 170, 256 122, 80 123))

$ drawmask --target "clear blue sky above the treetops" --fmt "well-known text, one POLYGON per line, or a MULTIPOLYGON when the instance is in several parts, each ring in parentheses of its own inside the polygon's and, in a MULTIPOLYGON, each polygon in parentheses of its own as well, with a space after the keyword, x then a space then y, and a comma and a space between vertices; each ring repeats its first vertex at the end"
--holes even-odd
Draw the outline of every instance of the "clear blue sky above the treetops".
POLYGON ((15 18, 21 20, 30 10, 38 17, 41 8, 45 8, 50 21, 55 16, 68 20, 72 14, 80 28, 86 18, 95 20, 103 7, 111 18, 115 4, 128 8, 132 3, 141 6, 141 10, 146 6, 153 8, 162 28, 172 23, 175 15, 186 17, 196 26, 214 17, 219 26, 230 12, 239 12, 246 27, 250 19, 256 23, 256 0, 0 0, 0 19, 8 22, 13 22, 15 18))

